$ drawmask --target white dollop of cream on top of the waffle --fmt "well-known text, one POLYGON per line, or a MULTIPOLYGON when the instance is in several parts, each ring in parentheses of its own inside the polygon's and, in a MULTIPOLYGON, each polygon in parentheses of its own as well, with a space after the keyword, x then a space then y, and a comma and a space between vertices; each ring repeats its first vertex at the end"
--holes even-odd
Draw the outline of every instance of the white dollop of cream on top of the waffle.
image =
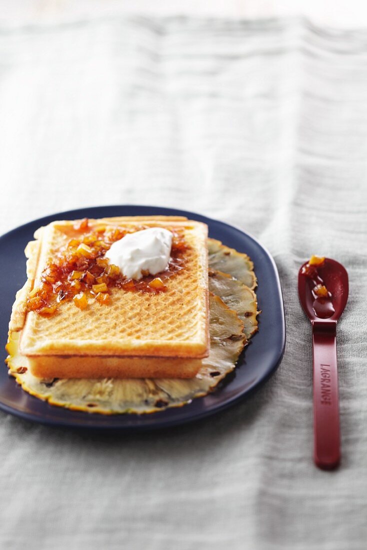
POLYGON ((141 271, 155 275, 168 267, 172 237, 171 231, 162 227, 129 233, 114 242, 105 257, 128 279, 141 279, 141 271))

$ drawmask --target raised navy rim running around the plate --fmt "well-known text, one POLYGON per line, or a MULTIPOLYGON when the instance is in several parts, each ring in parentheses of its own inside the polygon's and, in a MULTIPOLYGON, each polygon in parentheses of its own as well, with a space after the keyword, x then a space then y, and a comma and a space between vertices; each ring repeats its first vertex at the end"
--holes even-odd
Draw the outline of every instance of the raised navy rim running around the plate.
MULTIPOLYGON (((179 406, 179 407, 168 408, 168 409, 158 411, 158 412, 155 412, 155 413, 152 413, 152 414, 147 414, 147 415, 124 415, 124 414, 97 415, 95 413, 89 413, 89 412, 84 412, 84 411, 71 411, 67 408, 61 408, 61 407, 56 407, 55 405, 50 405, 50 404, 47 403, 47 401, 42 401, 39 398, 36 398, 36 397, 26 393, 25 390, 23 390, 22 388, 20 388, 20 386, 18 386, 18 383, 15 381, 15 379, 13 379, 12 382, 14 382, 14 384, 16 384, 19 387, 19 389, 21 389, 22 392, 26 393, 27 398, 37 399, 37 404, 39 404, 39 401, 40 401, 41 403, 50 406, 52 408, 51 409, 51 414, 50 414, 50 416, 48 416, 48 415, 46 415, 46 416, 45 415, 37 415, 34 412, 27 412, 27 411, 21 410, 19 408, 15 408, 12 405, 8 405, 7 403, 4 403, 1 396, 0 396, 0 410, 2 410, 4 412, 7 412, 8 414, 12 414, 14 416, 20 417, 22 419, 28 420, 28 421, 37 422, 37 423, 41 423, 43 425, 48 425, 48 426, 53 426, 53 427, 68 427, 68 428, 83 429, 83 430, 84 429, 86 429, 86 430, 117 430, 117 431, 125 431, 125 432, 128 432, 128 431, 158 430, 158 429, 164 429, 164 428, 171 427, 171 426, 178 426, 178 425, 183 425, 183 424, 186 424, 186 423, 191 423, 191 422, 194 422, 194 421, 198 421, 200 419, 204 419, 207 416, 218 414, 219 412, 221 412, 225 409, 228 409, 231 406, 234 406, 239 401, 242 401, 245 398, 249 397, 249 395, 251 395, 256 389, 258 389, 264 383, 266 383, 267 380, 273 375, 273 373, 275 373, 278 366, 280 365, 280 363, 282 361, 282 358, 283 358, 283 355, 284 355, 284 350, 285 350, 285 347, 286 347, 286 316, 285 316, 285 312, 284 312, 284 300, 283 300, 281 282, 280 282, 280 277, 279 277, 279 273, 278 273, 278 270, 277 270, 277 266, 276 266, 275 260, 273 259, 272 255, 270 254, 269 250, 267 250, 267 248, 264 245, 262 245, 260 243, 260 241, 258 239, 256 239, 251 233, 248 233, 247 231, 243 230, 242 228, 238 227, 235 224, 230 224, 230 223, 224 222, 221 219, 211 218, 209 216, 200 214, 198 212, 180 210, 178 208, 171 208, 171 207, 168 207, 168 206, 136 205, 136 204, 87 206, 87 207, 81 207, 81 208, 73 208, 72 210, 66 210, 66 211, 62 211, 62 212, 55 212, 55 213, 52 213, 50 215, 42 216, 41 218, 33 219, 29 222, 21 224, 20 226, 15 227, 13 229, 10 229, 8 232, 2 234, 0 236, 0 245, 1 245, 3 240, 12 238, 12 234, 17 234, 17 233, 19 233, 21 231, 24 231, 26 229, 30 229, 32 226, 35 226, 35 224, 37 224, 37 227, 41 227, 42 222, 50 223, 51 221, 54 221, 56 219, 62 219, 61 218, 62 216, 64 216, 64 219, 73 219, 72 216, 74 215, 74 213, 77 213, 77 212, 79 212, 79 213, 83 212, 83 211, 91 212, 91 211, 108 210, 108 209, 117 210, 119 208, 120 209, 132 208, 134 210, 156 211, 156 212, 153 212, 151 215, 158 215, 160 213, 161 215, 166 215, 166 216, 167 215, 168 216, 169 215, 171 215, 171 216, 174 216, 174 215, 176 215, 176 216, 186 216, 189 219, 190 218, 191 219, 199 219, 199 221, 207 223, 209 226, 210 226, 210 223, 220 224, 220 226, 224 226, 224 227, 228 228, 228 230, 235 229, 238 233, 240 233, 241 235, 244 235, 245 238, 248 238, 248 239, 252 240, 253 243, 255 244, 255 246, 257 246, 260 250, 262 250, 265 253, 266 257, 267 257, 267 260, 270 261, 270 265, 272 267, 273 276, 274 276, 274 282, 276 283, 277 295, 278 295, 278 298, 280 298, 280 305, 281 305, 281 307, 280 307, 280 316, 281 316, 281 327, 280 327, 281 334, 280 334, 280 336, 281 336, 281 342, 280 342, 280 352, 277 353, 276 360, 271 361, 271 364, 267 367, 265 374, 262 375, 258 380, 256 380, 256 382, 253 384, 253 386, 250 386, 249 388, 245 388, 243 390, 243 392, 239 393, 238 395, 234 395, 233 397, 228 397, 226 400, 224 400, 221 403, 217 403, 217 404, 214 403, 211 406, 205 408, 204 410, 200 410, 200 411, 195 412, 193 414, 190 414, 190 412, 192 413, 192 411, 188 410, 190 404, 179 406), (158 212, 158 211, 165 211, 166 213, 158 212), (167 211, 169 213, 167 213, 167 211), (65 414, 65 417, 61 418, 61 419, 54 418, 53 415, 52 415, 52 410, 54 408, 57 409, 57 410, 61 409, 63 414, 65 414), (184 410, 184 412, 187 411, 187 414, 184 414, 183 417, 176 417, 175 418, 174 417, 174 412, 179 413, 182 410, 184 410), (165 418, 162 419, 162 416, 158 416, 158 415, 162 415, 162 414, 164 415, 165 413, 167 413, 167 411, 174 411, 173 413, 169 412, 169 414, 173 415, 172 418, 168 417, 167 419, 165 419, 165 418), (71 419, 68 420, 67 415, 70 414, 70 413, 75 414, 76 412, 78 412, 81 415, 80 416, 80 421, 76 422, 75 420, 71 420, 71 419), (153 421, 149 422, 149 423, 138 422, 141 419, 141 417, 149 417, 149 419, 153 419, 153 421), (134 423, 134 421, 126 423, 126 422, 123 422, 124 419, 125 420, 128 419, 129 421, 131 421, 132 419, 136 419, 136 423, 134 423), (109 422, 108 422, 108 420, 109 420, 109 422), (122 422, 118 422, 118 420, 120 420, 122 422)), ((133 214, 133 215, 139 215, 139 214, 133 214)), ((141 215, 144 215, 144 214, 141 214, 141 215)), ((146 213, 145 215, 149 215, 149 214, 146 213)), ((92 217, 92 216, 90 214, 87 215, 87 213, 86 213, 85 217, 92 217)), ((105 217, 106 217, 106 215, 105 215, 105 217)), ((74 218, 74 219, 77 219, 77 218, 74 218)), ((261 317, 260 317, 260 322, 261 322, 261 317)), ((9 376, 9 375, 6 373, 6 376, 9 376)), ((231 382, 229 382, 229 384, 230 383, 231 382)), ((220 388, 218 388, 218 390, 220 390, 220 388)), ((215 395, 215 394, 216 394, 216 392, 213 392, 211 395, 215 395)), ((204 399, 204 398, 200 398, 200 397, 195 398, 193 401, 200 400, 200 399, 204 399)), ((176 414, 176 416, 179 416, 179 415, 176 414)))

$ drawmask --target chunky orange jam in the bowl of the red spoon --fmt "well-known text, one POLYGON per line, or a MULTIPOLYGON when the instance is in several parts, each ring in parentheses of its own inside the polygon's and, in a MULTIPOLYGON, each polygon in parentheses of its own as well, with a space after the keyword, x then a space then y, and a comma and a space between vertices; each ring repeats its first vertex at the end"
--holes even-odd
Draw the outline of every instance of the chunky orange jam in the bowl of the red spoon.
POLYGON ((302 268, 302 274, 311 279, 313 288, 311 290, 314 303, 313 310, 317 317, 327 319, 335 313, 332 305, 332 294, 326 288, 326 285, 320 277, 319 268, 325 266, 325 258, 319 256, 311 256, 311 259, 302 268))

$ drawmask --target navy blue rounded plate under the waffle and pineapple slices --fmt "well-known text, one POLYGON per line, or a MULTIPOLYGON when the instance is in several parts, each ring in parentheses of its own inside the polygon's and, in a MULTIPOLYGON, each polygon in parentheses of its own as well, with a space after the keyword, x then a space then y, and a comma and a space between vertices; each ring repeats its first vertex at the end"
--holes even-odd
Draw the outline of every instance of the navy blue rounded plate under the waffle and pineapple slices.
POLYGON ((32 240, 35 230, 56 219, 103 218, 112 216, 187 216, 207 223, 209 235, 223 241, 238 251, 246 252, 255 264, 258 277, 259 332, 240 356, 235 373, 215 392, 206 397, 194 399, 192 403, 179 408, 167 409, 148 415, 98 415, 88 412, 70 411, 49 405, 24 392, 14 378, 9 377, 7 368, 0 367, 0 409, 24 419, 44 424, 107 428, 119 430, 151 430, 200 419, 213 414, 242 399, 273 373, 282 359, 286 343, 286 327, 280 281, 275 263, 253 237, 241 230, 215 219, 174 210, 151 206, 101 206, 61 212, 53 216, 36 219, 34 222, 13 229, 0 238, 0 335, 3 362, 6 358, 4 346, 7 340, 8 323, 14 296, 25 283, 24 248, 32 240), (9 273, 10 272, 10 273, 9 273))

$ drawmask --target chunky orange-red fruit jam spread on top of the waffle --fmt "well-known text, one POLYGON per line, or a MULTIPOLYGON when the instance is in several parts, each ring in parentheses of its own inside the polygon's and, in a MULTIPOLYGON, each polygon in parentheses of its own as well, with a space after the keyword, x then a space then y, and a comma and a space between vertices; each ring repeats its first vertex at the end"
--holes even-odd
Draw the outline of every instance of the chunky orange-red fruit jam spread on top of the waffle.
POLYGON ((28 311, 43 316, 52 316, 63 301, 74 301, 79 309, 86 309, 88 299, 95 299, 101 305, 111 302, 111 289, 120 288, 127 292, 157 294, 165 292, 166 279, 174 276, 184 267, 184 252, 187 250, 183 232, 169 228, 173 233, 171 259, 165 271, 156 275, 143 273, 139 281, 123 276, 117 266, 109 263, 105 256, 111 245, 128 233, 147 229, 97 226, 91 228, 85 218, 75 224, 72 238, 59 251, 53 262, 42 272, 40 283, 29 293, 28 311))

